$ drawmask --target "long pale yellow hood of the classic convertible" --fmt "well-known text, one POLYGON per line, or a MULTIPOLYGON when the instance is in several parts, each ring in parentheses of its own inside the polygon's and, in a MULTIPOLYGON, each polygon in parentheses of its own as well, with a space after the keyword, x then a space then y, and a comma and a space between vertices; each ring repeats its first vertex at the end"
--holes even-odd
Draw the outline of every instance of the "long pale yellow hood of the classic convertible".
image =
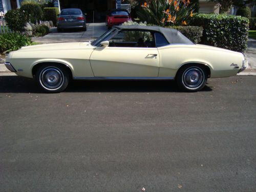
POLYGON ((50 50, 74 50, 74 49, 93 49, 90 42, 65 42, 59 44, 43 44, 36 46, 22 47, 18 51, 50 51, 50 50))

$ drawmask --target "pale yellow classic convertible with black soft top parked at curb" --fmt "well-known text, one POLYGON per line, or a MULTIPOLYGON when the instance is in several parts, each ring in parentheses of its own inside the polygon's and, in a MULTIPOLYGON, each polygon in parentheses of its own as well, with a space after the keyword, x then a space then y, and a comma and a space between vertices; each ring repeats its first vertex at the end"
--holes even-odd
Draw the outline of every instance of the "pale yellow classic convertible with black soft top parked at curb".
POLYGON ((117 26, 92 42, 23 47, 6 67, 35 78, 42 89, 65 90, 70 79, 172 79, 199 91, 207 78, 229 77, 247 67, 242 53, 195 45, 175 29, 117 26))

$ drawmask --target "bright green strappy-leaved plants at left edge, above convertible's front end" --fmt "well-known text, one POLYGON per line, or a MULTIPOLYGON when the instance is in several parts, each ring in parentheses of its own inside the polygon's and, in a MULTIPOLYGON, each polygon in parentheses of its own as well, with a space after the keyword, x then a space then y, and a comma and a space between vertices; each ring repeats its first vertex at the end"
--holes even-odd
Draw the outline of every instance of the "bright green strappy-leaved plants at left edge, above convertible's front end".
POLYGON ((0 33, 0 52, 16 51, 32 44, 31 38, 19 32, 0 33))

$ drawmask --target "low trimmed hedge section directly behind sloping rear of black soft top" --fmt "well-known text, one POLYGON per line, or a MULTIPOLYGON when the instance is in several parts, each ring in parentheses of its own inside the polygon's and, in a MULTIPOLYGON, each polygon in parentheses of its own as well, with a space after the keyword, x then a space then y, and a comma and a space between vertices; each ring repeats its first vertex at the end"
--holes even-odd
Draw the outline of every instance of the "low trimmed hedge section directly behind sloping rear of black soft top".
POLYGON ((185 35, 189 40, 198 44, 203 36, 203 28, 199 26, 178 26, 169 27, 179 30, 183 35, 185 35))

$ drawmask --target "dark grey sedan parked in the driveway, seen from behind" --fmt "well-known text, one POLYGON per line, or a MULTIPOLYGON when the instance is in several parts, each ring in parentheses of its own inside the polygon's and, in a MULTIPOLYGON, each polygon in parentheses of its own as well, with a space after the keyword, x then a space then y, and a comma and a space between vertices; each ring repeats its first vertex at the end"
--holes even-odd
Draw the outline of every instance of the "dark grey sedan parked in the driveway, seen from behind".
POLYGON ((86 16, 80 9, 62 9, 57 18, 57 30, 82 29, 87 30, 86 16))

